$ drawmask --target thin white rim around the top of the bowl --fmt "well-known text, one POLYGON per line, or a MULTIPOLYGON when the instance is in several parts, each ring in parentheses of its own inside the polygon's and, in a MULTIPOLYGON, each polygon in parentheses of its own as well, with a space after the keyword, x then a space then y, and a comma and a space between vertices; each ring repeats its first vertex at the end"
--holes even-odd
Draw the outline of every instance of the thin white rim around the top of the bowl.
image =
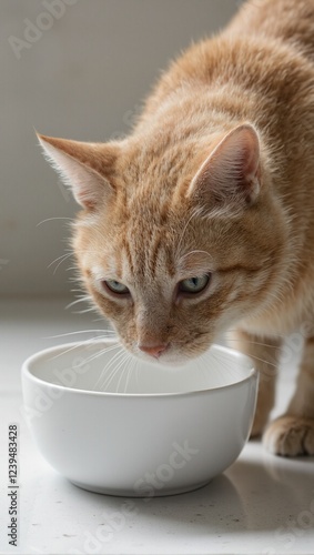
POLYGON ((107 391, 93 391, 93 390, 82 390, 79 387, 70 387, 67 385, 60 385, 55 384, 53 382, 48 382, 47 380, 42 380, 41 377, 38 377, 32 374, 30 371, 30 365, 36 363, 38 359, 41 359, 42 356, 47 356, 51 353, 55 353, 58 350, 63 350, 63 349, 70 349, 73 347, 74 345, 79 346, 84 346, 84 345, 90 345, 90 344, 97 344, 97 343, 119 343, 119 340, 117 337, 104 337, 101 340, 88 340, 88 341, 74 341, 74 342, 69 342, 69 343, 61 343, 59 345, 53 345, 51 347, 45 347, 40 351, 37 351, 36 353, 31 354, 28 356, 24 362, 22 363, 21 366, 21 377, 27 379, 30 382, 33 382, 34 384, 38 385, 45 385, 48 387, 53 387, 57 390, 61 390, 68 393, 74 393, 74 394, 80 394, 80 395, 95 395, 95 396, 109 396, 109 397, 114 397, 114 398, 161 398, 161 397, 178 397, 178 396, 190 396, 190 395, 201 395, 201 394, 207 394, 207 393, 217 393, 223 390, 229 390, 233 387, 239 387, 245 384, 245 382, 251 381, 252 379, 259 380, 259 372, 254 367, 254 361, 247 356, 244 353, 241 353, 240 351, 236 351, 235 349, 231 349, 224 345, 220 345, 217 343, 213 343, 211 347, 215 347, 224 353, 231 354, 232 356, 236 356, 239 359, 243 359, 246 361, 246 363, 252 364, 252 367, 247 370, 249 374, 243 380, 239 380, 237 382, 226 384, 226 385, 219 385, 216 387, 207 387, 204 390, 191 390, 191 391, 185 391, 185 392, 169 392, 169 393, 114 393, 114 392, 107 392, 107 391))

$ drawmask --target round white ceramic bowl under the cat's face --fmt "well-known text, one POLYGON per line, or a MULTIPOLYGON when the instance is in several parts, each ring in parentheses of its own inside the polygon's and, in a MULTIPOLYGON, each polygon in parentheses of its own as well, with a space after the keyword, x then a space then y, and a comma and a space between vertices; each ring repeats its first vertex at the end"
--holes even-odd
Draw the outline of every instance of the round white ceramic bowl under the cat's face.
POLYGON ((51 466, 85 490, 151 497, 233 463, 255 408, 252 361, 214 345, 183 367, 130 359, 128 370, 118 345, 71 343, 24 362, 26 414, 51 466))

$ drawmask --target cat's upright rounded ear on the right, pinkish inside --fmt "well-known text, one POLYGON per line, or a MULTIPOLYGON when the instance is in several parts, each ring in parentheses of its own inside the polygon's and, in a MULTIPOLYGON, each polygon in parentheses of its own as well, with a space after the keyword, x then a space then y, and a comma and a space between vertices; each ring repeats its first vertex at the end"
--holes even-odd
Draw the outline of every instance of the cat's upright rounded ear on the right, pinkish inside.
POLYGON ((203 162, 188 190, 204 208, 239 210, 260 193, 260 141, 251 124, 230 131, 203 162))

